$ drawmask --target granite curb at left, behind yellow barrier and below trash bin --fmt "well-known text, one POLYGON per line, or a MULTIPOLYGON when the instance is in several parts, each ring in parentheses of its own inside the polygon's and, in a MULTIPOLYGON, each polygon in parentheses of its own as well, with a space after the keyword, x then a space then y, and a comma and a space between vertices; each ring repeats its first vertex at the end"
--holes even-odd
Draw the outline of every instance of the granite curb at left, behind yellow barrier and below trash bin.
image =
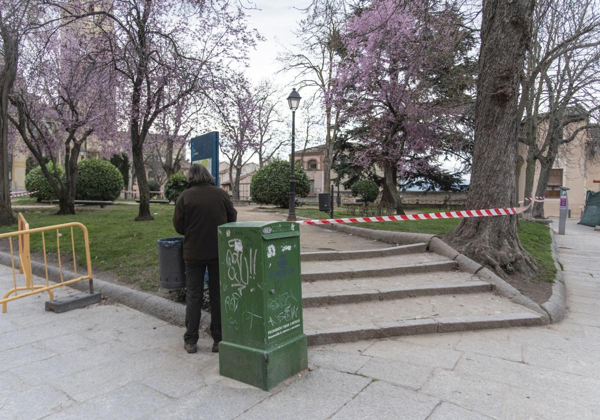
MULTIPOLYGON (((14 257, 15 267, 17 266, 17 258, 14 257)), ((0 252, 0 264, 11 266, 10 254, 0 252)), ((41 278, 46 278, 44 265, 39 262, 31 262, 31 270, 34 275, 41 278)), ((65 278, 75 278, 74 272, 63 270, 65 278)), ((61 281, 60 271, 58 268, 48 266, 48 278, 54 283, 61 281)), ((80 283, 70 284, 69 287, 86 292, 89 290, 88 282, 81 281, 80 283)), ((173 325, 185 325, 185 305, 170 301, 160 296, 152 295, 152 293, 142 292, 142 290, 130 289, 127 286, 111 283, 110 281, 94 278, 94 291, 100 292, 104 298, 110 302, 115 302, 125 305, 134 310, 148 314, 163 321, 172 323, 173 325)), ((208 328, 211 324, 210 314, 203 312, 202 320, 200 321, 201 328, 208 328)))

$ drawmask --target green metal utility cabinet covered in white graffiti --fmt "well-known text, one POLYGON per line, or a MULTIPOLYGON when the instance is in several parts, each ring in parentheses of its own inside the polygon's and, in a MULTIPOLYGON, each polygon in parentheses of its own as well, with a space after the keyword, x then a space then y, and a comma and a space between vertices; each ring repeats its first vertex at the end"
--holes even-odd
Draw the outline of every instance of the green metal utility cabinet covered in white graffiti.
POLYGON ((265 390, 307 368, 299 226, 219 226, 223 376, 265 390))

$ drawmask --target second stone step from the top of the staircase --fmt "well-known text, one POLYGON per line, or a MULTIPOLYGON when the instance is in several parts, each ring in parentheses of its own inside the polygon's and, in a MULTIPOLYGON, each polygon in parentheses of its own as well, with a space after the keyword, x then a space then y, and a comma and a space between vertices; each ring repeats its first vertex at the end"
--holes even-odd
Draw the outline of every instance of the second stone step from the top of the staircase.
POLYGON ((389 277, 432 271, 450 271, 456 263, 433 253, 377 257, 345 261, 302 263, 302 280, 349 280, 364 277, 389 277))

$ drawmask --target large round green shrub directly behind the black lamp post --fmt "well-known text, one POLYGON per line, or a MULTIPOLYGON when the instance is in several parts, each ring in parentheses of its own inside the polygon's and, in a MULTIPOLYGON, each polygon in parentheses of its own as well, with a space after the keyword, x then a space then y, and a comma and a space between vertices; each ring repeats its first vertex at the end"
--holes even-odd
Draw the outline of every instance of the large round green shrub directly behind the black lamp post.
MULTIPOLYGON (((296 197, 310 192, 310 179, 304 170, 296 167, 296 197)), ((250 196, 259 204, 273 204, 283 208, 290 205, 290 163, 274 160, 259 169, 252 177, 250 196)))

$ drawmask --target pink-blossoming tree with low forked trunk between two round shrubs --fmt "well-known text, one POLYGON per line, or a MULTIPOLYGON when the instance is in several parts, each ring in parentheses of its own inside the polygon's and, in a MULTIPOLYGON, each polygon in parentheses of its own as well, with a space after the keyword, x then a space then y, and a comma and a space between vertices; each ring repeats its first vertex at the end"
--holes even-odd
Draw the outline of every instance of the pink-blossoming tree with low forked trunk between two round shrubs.
MULTIPOLYGON (((95 136, 110 154, 115 139, 113 71, 103 64, 101 40, 82 20, 51 34, 29 34, 8 116, 59 199, 59 214, 74 214, 77 161, 95 136), (54 170, 47 169, 46 160, 54 170), (62 163, 65 179, 58 176, 62 163)), ((18 143, 17 143, 18 144, 18 143)), ((18 148, 17 145, 14 146, 18 148)))

